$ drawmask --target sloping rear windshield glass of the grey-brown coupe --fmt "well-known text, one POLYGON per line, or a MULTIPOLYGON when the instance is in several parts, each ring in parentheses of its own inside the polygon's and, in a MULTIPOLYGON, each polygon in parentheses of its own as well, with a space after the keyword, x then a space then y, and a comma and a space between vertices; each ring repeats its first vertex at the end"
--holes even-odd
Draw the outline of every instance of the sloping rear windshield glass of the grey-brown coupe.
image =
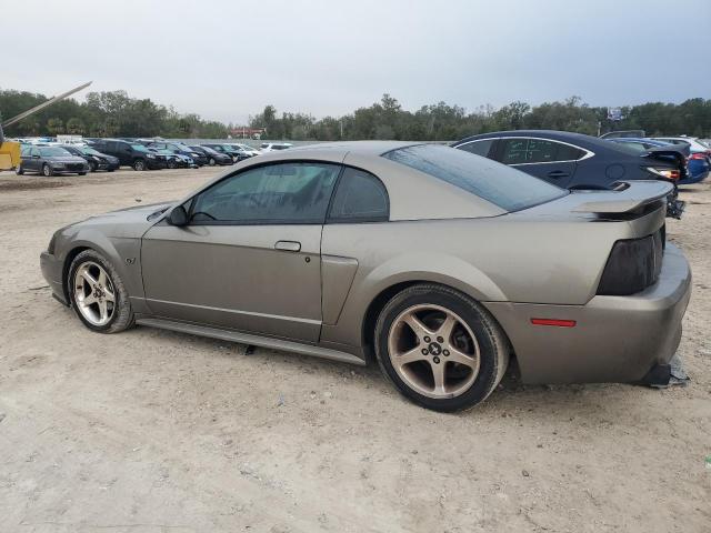
POLYGON ((384 153, 383 158, 430 174, 505 211, 519 211, 568 193, 519 170, 438 144, 401 148, 384 153))

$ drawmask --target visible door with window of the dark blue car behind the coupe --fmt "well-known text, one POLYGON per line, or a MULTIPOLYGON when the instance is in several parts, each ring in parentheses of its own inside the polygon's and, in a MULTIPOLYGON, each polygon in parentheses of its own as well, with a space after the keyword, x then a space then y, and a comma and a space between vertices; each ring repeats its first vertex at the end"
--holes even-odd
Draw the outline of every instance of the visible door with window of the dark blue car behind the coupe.
POLYGON ((585 151, 568 143, 532 137, 499 140, 497 160, 558 187, 568 187, 585 151))

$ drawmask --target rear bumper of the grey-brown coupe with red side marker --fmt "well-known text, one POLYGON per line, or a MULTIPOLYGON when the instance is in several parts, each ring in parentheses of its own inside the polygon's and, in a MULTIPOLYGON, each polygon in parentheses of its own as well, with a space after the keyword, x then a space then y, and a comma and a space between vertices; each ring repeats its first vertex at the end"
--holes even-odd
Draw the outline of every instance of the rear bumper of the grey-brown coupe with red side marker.
POLYGON ((597 295, 585 305, 484 305, 509 335, 525 383, 640 382, 677 351, 690 295, 689 263, 668 243, 659 281, 638 294, 597 295), (534 318, 577 323, 541 326, 534 318))

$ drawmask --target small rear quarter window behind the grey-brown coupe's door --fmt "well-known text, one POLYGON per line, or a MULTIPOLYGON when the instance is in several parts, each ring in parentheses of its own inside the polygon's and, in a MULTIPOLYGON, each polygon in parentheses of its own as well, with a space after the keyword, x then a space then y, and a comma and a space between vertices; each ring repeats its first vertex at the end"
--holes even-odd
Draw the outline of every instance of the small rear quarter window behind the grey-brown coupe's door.
POLYGON ((382 222, 389 214, 385 185, 368 172, 347 167, 333 197, 329 222, 382 222))

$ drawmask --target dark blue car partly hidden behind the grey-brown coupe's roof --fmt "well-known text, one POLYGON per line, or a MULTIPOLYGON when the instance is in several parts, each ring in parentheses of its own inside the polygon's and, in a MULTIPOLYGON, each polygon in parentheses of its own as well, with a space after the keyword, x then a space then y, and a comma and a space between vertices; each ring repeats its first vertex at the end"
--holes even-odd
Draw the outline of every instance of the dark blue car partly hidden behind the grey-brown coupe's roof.
MULTIPOLYGON (((597 137, 551 130, 498 131, 452 147, 515 167, 565 189, 611 189, 620 181, 687 178, 687 154, 677 145, 635 152, 597 137)), ((668 214, 680 217, 675 188, 668 214)))

